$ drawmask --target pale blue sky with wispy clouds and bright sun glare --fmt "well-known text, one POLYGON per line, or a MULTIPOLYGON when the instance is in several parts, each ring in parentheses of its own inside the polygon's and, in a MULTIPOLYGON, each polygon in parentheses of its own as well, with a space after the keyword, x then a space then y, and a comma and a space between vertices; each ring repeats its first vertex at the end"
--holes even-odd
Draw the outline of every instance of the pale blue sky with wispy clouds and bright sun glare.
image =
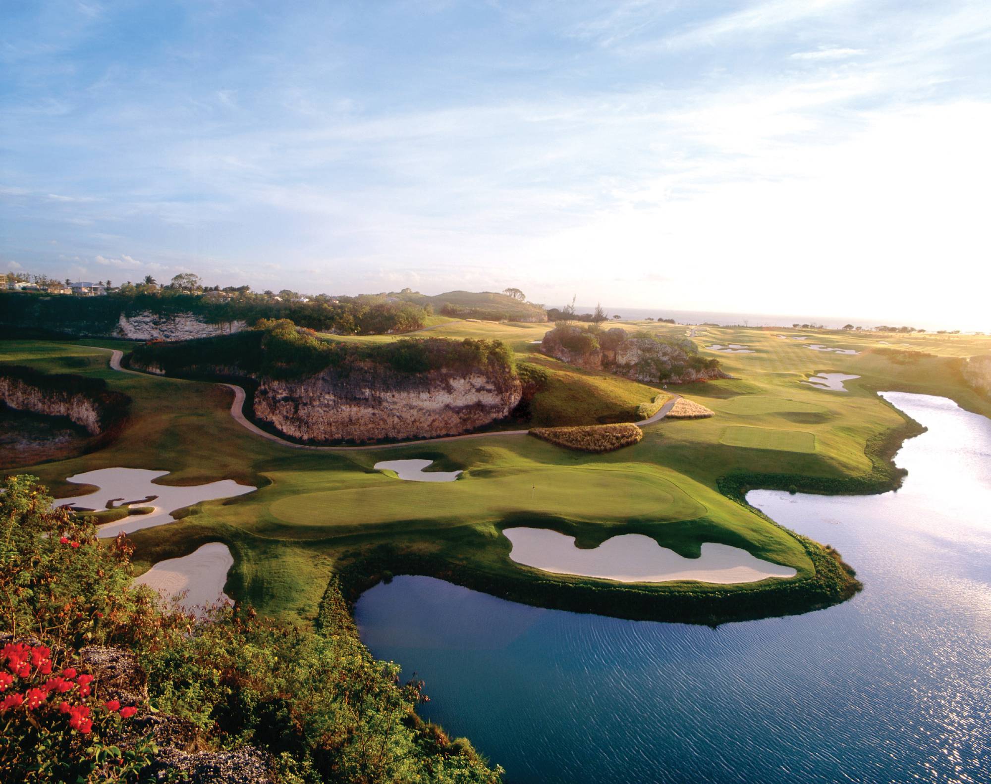
POLYGON ((991 331, 987 0, 0 3, 0 268, 991 331))

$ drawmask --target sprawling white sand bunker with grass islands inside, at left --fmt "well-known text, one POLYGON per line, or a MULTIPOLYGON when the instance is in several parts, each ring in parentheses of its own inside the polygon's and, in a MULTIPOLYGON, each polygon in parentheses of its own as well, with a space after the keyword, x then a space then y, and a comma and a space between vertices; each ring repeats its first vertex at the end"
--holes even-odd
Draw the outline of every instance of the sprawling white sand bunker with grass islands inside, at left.
POLYGON ((239 485, 233 479, 222 479, 219 482, 190 487, 153 484, 153 479, 158 479, 167 473, 168 471, 150 471, 146 468, 100 468, 96 471, 86 471, 70 476, 66 481, 77 484, 93 484, 99 490, 89 495, 55 499, 55 505, 68 505, 99 511, 111 509, 111 502, 114 502, 114 506, 120 506, 115 500, 123 498, 125 501, 138 502, 135 506, 155 507, 155 511, 149 515, 132 515, 115 523, 101 526, 98 536, 106 539, 116 537, 122 531, 125 534, 131 534, 152 526, 174 523, 175 519, 171 513, 183 507, 198 504, 200 501, 213 501, 218 498, 244 495, 256 489, 250 485, 239 485), (148 496, 158 496, 158 498, 150 502, 139 501, 139 499, 148 496))

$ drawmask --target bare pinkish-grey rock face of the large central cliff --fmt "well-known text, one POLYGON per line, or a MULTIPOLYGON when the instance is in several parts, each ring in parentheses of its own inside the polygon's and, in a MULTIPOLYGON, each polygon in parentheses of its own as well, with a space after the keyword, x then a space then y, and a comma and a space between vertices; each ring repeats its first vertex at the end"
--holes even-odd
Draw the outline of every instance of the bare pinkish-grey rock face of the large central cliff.
POLYGON ((255 417, 302 441, 454 436, 508 416, 522 394, 512 375, 481 369, 408 374, 372 362, 302 380, 258 381, 255 417))

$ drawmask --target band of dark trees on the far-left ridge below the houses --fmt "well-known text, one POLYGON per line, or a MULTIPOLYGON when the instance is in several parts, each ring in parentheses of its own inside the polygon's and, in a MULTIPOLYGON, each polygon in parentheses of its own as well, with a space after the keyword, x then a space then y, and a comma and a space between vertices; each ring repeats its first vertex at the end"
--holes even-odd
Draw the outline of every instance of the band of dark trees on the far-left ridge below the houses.
POLYGON ((13 327, 44 327, 53 332, 108 335, 121 316, 153 313, 168 316, 191 313, 217 325, 259 319, 290 319, 320 332, 340 335, 383 335, 418 330, 426 323, 427 309, 416 303, 383 296, 276 299, 238 292, 228 299, 216 292, 183 293, 163 289, 145 293, 116 293, 102 297, 50 296, 4 293, 0 323, 13 327))

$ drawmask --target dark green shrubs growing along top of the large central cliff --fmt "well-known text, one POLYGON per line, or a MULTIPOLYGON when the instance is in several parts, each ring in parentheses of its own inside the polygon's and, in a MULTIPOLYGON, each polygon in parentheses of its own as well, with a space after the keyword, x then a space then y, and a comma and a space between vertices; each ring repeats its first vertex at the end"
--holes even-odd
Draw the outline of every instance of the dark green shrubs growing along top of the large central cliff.
POLYGON ((255 330, 174 343, 145 343, 132 363, 165 373, 247 374, 304 378, 328 367, 342 371, 356 362, 386 365, 400 373, 487 368, 510 373, 512 352, 501 341, 405 338, 391 343, 344 343, 320 338, 292 322, 262 320, 255 330))

